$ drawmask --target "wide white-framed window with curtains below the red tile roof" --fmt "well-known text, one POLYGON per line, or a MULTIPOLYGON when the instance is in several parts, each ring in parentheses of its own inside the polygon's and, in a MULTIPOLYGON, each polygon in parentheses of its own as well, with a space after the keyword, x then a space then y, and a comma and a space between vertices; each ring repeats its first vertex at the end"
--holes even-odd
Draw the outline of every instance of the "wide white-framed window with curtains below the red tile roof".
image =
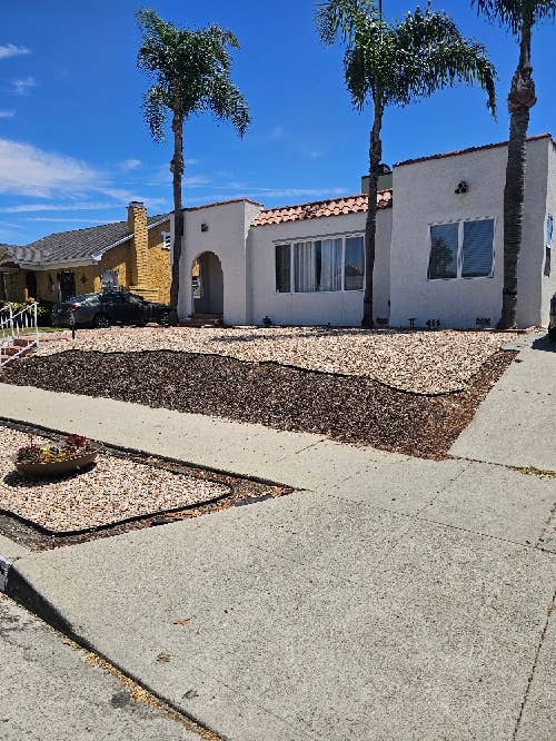
POLYGON ((361 290, 365 239, 358 235, 276 245, 275 266, 280 294, 361 290))

